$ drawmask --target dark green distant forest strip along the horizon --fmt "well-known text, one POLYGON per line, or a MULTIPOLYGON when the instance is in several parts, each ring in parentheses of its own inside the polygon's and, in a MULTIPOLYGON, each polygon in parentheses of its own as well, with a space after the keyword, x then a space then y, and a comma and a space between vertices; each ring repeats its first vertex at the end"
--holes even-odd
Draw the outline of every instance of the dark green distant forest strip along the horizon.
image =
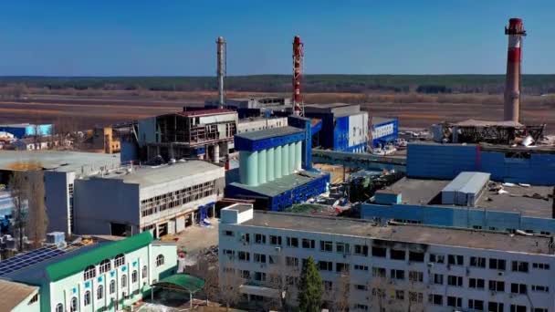
MULTIPOLYGON (((501 94, 505 75, 307 75, 306 92, 417 92, 501 94)), ((215 90, 215 77, 0 77, 0 88, 105 89, 152 91, 215 90)), ((555 75, 524 75, 523 93, 555 93, 555 75)), ((232 91, 289 92, 288 75, 233 76, 225 78, 232 91)))

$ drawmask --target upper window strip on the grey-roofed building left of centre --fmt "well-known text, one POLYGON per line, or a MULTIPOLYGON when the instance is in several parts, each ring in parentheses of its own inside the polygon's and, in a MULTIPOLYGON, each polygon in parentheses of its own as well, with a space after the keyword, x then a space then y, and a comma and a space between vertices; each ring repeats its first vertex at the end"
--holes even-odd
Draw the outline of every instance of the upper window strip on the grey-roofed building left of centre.
POLYGON ((204 182, 178 190, 167 192, 141 201, 141 216, 159 213, 167 209, 191 203, 215 193, 215 181, 204 182))

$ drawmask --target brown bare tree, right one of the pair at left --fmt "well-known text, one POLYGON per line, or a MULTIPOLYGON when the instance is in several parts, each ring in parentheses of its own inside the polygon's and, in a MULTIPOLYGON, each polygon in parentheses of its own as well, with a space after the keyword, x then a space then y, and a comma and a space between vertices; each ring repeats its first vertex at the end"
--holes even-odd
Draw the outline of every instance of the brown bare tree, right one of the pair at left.
POLYGON ((45 203, 45 184, 44 172, 28 172, 28 213, 27 230, 29 239, 33 242, 33 247, 38 248, 47 236, 47 206, 45 203))

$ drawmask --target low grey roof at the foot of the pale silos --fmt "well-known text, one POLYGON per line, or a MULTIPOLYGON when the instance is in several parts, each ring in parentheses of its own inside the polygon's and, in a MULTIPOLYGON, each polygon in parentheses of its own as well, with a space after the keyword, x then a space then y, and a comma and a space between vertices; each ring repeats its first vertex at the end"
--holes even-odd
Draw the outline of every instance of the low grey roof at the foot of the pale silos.
POLYGON ((299 185, 306 184, 316 178, 319 178, 323 173, 319 172, 298 172, 288 174, 284 177, 276 179, 274 181, 266 182, 257 186, 249 186, 246 184, 241 184, 239 182, 233 182, 231 185, 240 187, 247 191, 257 192, 259 194, 266 195, 268 197, 274 197, 282 192, 287 192, 299 185))

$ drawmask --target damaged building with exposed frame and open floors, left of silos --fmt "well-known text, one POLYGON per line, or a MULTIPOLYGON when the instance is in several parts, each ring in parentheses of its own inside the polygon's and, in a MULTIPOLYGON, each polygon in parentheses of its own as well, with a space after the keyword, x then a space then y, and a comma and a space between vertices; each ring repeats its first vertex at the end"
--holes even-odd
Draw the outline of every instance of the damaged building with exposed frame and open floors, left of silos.
POLYGON ((237 131, 237 113, 229 109, 184 110, 138 121, 138 145, 144 159, 181 158, 219 162, 237 131))

